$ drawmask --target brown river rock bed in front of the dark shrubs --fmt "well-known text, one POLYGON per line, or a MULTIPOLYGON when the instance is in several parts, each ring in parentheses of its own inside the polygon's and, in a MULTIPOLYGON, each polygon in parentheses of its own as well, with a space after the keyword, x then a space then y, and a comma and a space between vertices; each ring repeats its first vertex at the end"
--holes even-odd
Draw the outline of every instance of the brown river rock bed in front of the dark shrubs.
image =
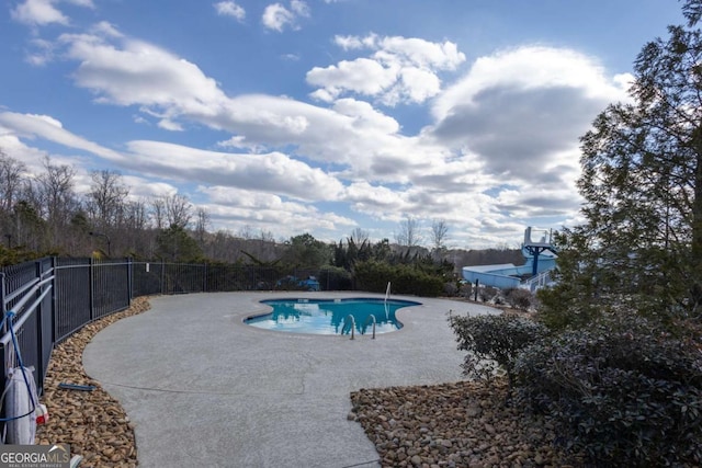
POLYGON ((351 393, 358 421, 383 467, 567 467, 554 426, 505 404, 503 383, 361 389, 351 393))

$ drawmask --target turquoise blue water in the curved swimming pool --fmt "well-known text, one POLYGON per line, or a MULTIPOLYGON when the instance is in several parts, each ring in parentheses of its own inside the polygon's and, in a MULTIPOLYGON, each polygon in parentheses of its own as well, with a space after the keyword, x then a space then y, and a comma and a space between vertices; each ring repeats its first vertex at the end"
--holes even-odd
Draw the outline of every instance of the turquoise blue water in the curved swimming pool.
MULTIPOLYGON (((262 300, 273 308, 272 313, 250 317, 245 323, 267 330, 291 333, 341 334, 344 319, 352 315, 356 333, 372 333, 371 315, 375 317, 375 333, 399 330, 403 324, 395 311, 419 306, 411 300, 352 299, 272 299, 262 300)), ((349 330, 346 330, 349 333, 349 330)))

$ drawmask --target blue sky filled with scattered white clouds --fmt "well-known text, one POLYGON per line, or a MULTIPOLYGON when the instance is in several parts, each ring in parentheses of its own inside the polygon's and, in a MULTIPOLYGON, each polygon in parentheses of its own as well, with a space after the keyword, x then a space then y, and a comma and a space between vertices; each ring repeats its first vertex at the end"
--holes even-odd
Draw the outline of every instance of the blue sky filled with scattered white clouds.
POLYGON ((517 247, 581 222, 579 138, 672 0, 5 0, 0 150, 210 230, 517 247))

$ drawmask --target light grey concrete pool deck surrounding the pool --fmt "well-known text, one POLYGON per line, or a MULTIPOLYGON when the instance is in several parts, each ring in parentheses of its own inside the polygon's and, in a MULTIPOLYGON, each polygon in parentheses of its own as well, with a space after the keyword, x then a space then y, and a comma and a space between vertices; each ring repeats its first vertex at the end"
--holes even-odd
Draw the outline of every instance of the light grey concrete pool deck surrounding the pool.
POLYGON ((145 313, 102 330, 83 366, 135 423, 140 467, 378 467, 348 421, 361 388, 462 379, 463 352, 446 312, 496 313, 476 304, 421 301, 392 333, 309 335, 246 326, 262 299, 383 297, 359 293, 214 293, 160 296, 145 313))

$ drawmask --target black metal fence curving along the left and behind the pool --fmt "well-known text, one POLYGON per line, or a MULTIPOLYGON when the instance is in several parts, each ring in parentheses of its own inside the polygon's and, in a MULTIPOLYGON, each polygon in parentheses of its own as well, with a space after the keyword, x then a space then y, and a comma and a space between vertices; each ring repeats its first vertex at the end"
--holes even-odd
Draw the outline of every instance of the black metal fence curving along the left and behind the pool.
MULTIPOLYGON (((139 296, 305 287, 291 278, 309 272, 282 272, 258 265, 210 265, 45 258, 0 270, 2 318, 12 326, 25 366, 34 366, 43 391, 52 350, 86 324, 129 307, 139 296)), ((320 282, 322 288, 329 278, 320 282)), ((0 339, 0 391, 13 362, 4 324, 0 339)))

